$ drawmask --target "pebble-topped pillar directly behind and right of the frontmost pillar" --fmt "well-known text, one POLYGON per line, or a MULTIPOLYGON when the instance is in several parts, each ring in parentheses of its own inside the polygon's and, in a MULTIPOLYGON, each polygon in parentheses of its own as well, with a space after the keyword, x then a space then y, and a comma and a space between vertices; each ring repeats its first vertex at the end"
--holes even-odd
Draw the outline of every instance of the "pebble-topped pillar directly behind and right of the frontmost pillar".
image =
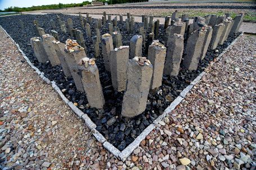
POLYGON ((162 85, 165 57, 166 47, 158 41, 153 41, 153 43, 149 45, 148 49, 148 59, 153 65, 150 89, 155 89, 162 85))

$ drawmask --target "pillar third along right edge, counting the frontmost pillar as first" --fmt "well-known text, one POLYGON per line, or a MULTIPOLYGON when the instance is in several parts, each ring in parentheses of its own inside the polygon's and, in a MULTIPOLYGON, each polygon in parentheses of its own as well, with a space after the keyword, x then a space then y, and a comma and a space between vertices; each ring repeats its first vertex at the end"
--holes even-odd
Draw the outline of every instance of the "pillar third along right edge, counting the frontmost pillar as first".
POLYGON ((179 34, 174 34, 170 36, 166 63, 164 64, 163 73, 165 75, 177 76, 180 71, 180 62, 182 58, 182 53, 184 49, 184 37, 179 34))

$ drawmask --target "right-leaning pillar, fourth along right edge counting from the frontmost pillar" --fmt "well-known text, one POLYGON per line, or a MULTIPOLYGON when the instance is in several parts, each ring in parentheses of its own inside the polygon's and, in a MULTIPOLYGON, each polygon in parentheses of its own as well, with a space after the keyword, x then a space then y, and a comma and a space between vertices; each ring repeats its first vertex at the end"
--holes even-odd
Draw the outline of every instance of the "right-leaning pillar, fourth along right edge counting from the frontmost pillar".
POLYGON ((196 70, 199 63, 201 51, 203 49, 203 41, 205 31, 196 30, 190 36, 186 44, 186 51, 183 65, 186 69, 196 70))

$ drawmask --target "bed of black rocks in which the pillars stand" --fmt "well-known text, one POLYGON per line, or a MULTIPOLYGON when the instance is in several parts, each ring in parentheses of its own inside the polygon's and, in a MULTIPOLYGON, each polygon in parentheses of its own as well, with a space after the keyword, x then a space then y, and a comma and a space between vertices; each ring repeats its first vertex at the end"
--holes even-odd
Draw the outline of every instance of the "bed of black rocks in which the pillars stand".
MULTIPOLYGON (((72 18, 74 28, 83 30, 80 26, 78 16, 61 15, 59 14, 62 21, 67 21, 67 18, 72 18)), ((170 103, 179 96, 182 89, 186 88, 193 81, 196 76, 203 72, 204 68, 207 67, 209 62, 218 56, 231 42, 240 34, 234 35, 234 37, 228 37, 227 41, 221 46, 218 46, 216 50, 208 50, 207 54, 202 62, 199 63, 197 70, 190 72, 182 68, 177 77, 163 76, 162 86, 158 89, 151 90, 148 96, 147 108, 143 114, 136 116, 132 119, 128 119, 121 116, 122 97, 123 93, 113 91, 111 83, 111 74, 104 68, 102 54, 97 58, 97 66, 100 74, 100 82, 103 88, 103 94, 106 101, 104 108, 97 110, 95 108, 88 107, 88 101, 85 93, 77 92, 73 79, 66 79, 61 66, 52 67, 50 63, 42 64, 38 63, 34 56, 34 52, 31 49, 30 38, 36 36, 35 27, 33 24, 34 20, 39 21, 39 25, 43 27, 46 34, 49 34, 52 30, 49 20, 53 19, 56 21, 57 29, 59 32, 60 41, 65 43, 68 38, 71 38, 68 33, 63 34, 60 30, 60 26, 57 23, 56 14, 48 15, 17 15, 0 17, 0 25, 11 35, 13 40, 20 45, 20 48, 24 51, 30 61, 37 67, 41 72, 44 72, 45 77, 51 81, 55 81, 57 86, 60 87, 63 94, 68 100, 73 103, 78 103, 77 107, 81 111, 88 114, 90 119, 97 125, 97 130, 115 147, 123 150, 129 145, 149 124, 151 124, 162 112, 167 108, 170 103), (25 24, 25 31, 20 28, 19 20, 25 24)), ((93 22, 96 21, 93 19, 93 22)), ((123 45, 129 45, 131 37, 135 34, 139 34, 138 23, 135 23, 134 34, 130 34, 125 29, 125 22, 120 23, 118 21, 118 27, 122 34, 123 45)), ((91 26, 92 35, 95 32, 91 26)), ((108 33, 107 22, 100 29, 100 35, 108 33)), ((149 30, 147 34, 149 34, 149 30)), ((186 37, 186 35, 185 35, 186 37)), ((163 43, 164 30, 163 25, 159 28, 159 41, 163 43)), ((90 37, 87 37, 84 30, 85 45, 88 51, 87 56, 92 58, 94 56, 93 42, 90 37)), ((164 44, 164 43, 163 43, 164 44)), ((186 45, 186 42, 184 42, 186 45)), ((101 48, 101 47, 100 47, 101 48)), ((184 48, 185 49, 185 48, 184 48)), ((145 48, 143 48, 143 55, 145 48)), ((22 61, 23 62, 23 61, 22 61)), ((53 101, 54 102, 54 101, 53 101)))

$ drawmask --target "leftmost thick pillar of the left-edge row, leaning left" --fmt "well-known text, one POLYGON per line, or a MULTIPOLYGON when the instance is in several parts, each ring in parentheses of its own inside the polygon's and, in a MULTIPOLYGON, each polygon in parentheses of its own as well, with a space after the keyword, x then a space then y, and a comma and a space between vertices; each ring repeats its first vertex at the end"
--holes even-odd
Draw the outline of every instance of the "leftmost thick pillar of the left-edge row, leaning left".
POLYGON ((30 44, 34 50, 35 57, 39 63, 46 63, 48 55, 45 53, 43 40, 41 37, 33 37, 30 39, 30 44))

